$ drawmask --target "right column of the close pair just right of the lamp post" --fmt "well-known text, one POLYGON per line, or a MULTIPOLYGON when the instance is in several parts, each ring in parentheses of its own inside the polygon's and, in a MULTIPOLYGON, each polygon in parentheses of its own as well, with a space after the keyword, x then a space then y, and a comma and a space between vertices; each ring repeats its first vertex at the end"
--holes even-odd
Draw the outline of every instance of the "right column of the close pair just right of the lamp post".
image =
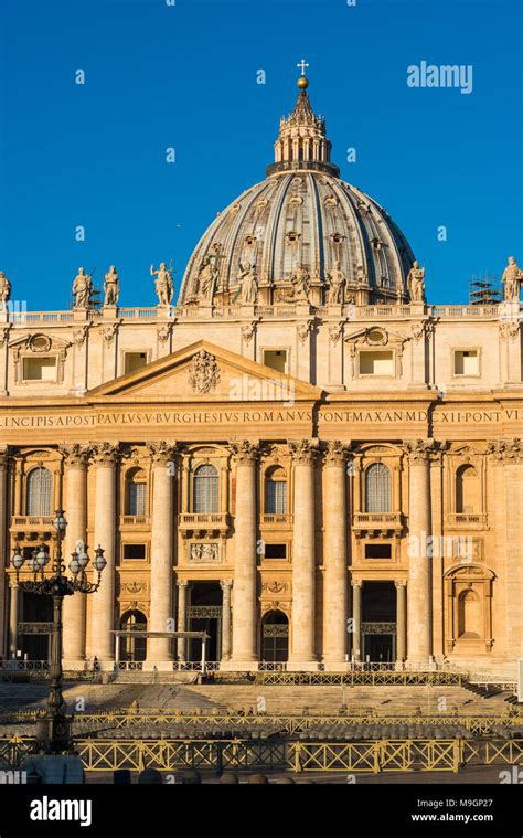
POLYGON ((104 549, 107 566, 102 574, 99 590, 93 594, 93 654, 103 669, 113 669, 115 662, 115 541, 116 497, 115 470, 118 445, 99 443, 94 446, 96 465, 95 543, 104 549))

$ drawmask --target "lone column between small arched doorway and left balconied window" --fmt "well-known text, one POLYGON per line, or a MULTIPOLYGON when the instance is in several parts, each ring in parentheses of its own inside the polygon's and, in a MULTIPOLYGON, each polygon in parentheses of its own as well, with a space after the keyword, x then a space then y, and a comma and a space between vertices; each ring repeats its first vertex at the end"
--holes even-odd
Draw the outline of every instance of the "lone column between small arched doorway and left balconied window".
MULTIPOLYGON (((173 627, 172 562, 175 445, 149 443, 152 457, 151 601, 150 632, 169 632, 173 627)), ((147 644, 145 669, 172 669, 171 640, 152 637, 147 644)))

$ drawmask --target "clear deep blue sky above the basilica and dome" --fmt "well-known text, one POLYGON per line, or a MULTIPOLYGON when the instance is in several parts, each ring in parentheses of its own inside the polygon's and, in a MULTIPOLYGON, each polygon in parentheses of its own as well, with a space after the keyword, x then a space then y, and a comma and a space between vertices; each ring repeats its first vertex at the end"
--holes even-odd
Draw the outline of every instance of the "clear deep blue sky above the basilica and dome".
POLYGON ((79 265, 99 284, 114 263, 121 305, 154 305, 160 259, 178 291, 216 212, 264 179, 302 55, 332 159, 403 229, 429 301, 466 301, 470 276, 500 275, 510 254, 523 265, 521 2, 168 2, 0 0, 0 269, 13 299, 67 308, 79 265), (421 61, 472 65, 472 93, 408 87, 421 61))

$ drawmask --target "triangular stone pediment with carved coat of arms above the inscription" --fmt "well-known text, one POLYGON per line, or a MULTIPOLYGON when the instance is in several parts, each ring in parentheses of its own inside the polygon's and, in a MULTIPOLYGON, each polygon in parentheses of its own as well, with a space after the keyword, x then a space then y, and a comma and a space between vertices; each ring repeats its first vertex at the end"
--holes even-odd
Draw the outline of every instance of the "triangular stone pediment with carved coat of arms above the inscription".
POLYGON ((89 390, 86 399, 183 402, 316 401, 322 391, 236 352, 199 340, 89 390))

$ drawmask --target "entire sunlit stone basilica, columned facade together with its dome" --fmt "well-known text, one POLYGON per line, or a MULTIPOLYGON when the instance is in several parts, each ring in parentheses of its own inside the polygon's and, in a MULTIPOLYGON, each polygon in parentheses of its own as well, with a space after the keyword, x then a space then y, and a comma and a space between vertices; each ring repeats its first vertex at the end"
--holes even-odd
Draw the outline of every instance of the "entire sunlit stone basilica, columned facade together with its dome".
POLYGON ((298 84, 177 301, 166 263, 150 308, 118 305, 115 266, 102 305, 81 269, 67 311, 12 310, 0 275, 4 658, 47 659, 47 597, 10 559, 53 553, 60 506, 64 563, 107 560, 66 598, 68 669, 191 668, 203 630, 222 670, 523 656, 521 271, 502 303, 428 305, 298 84))

